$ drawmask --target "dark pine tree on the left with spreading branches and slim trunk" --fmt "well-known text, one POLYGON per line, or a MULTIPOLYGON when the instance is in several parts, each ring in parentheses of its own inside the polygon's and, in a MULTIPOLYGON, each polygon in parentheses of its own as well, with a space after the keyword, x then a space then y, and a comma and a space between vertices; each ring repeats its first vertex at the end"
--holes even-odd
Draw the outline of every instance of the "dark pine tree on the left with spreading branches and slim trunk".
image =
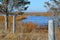
MULTIPOLYGON (((19 13, 24 13, 22 11, 27 10, 30 1, 28 0, 1 0, 0 12, 6 14, 6 29, 8 28, 8 16, 10 14, 17 15, 19 13), (14 11, 17 10, 17 11, 14 11), (17 14, 15 14, 17 12, 17 14)), ((21 14, 20 14, 21 15, 21 14)))

